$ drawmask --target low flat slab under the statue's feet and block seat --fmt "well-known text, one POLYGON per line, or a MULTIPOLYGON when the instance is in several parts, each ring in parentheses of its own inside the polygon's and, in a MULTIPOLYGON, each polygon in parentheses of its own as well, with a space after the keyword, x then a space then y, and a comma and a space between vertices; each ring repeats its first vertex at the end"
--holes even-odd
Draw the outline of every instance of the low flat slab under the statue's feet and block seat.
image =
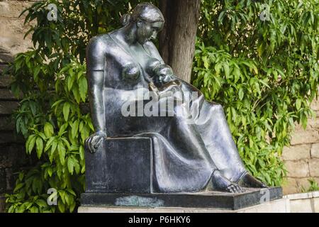
POLYGON ((238 210, 282 198, 281 187, 266 189, 245 188, 244 193, 196 192, 196 193, 83 193, 82 207, 144 207, 144 208, 207 208, 238 210))

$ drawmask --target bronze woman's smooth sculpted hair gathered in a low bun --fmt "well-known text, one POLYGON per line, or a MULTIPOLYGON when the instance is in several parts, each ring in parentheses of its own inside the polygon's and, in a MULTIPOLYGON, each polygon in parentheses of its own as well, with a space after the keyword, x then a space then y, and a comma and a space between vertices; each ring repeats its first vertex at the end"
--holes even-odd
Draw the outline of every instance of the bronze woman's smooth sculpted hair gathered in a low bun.
POLYGON ((130 22, 136 22, 138 19, 147 22, 164 22, 164 16, 162 12, 153 4, 144 2, 138 4, 133 9, 133 13, 126 13, 121 17, 121 23, 123 26, 127 26, 130 22))

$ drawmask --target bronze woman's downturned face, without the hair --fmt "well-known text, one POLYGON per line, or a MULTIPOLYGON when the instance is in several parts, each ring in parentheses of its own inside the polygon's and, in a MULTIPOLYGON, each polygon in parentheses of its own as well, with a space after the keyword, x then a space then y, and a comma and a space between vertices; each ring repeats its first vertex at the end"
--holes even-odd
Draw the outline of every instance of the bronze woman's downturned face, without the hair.
POLYGON ((157 37, 157 33, 162 30, 164 23, 161 21, 158 22, 147 22, 147 21, 138 21, 137 23, 137 33, 136 37, 138 43, 143 45, 147 41, 153 40, 157 37))

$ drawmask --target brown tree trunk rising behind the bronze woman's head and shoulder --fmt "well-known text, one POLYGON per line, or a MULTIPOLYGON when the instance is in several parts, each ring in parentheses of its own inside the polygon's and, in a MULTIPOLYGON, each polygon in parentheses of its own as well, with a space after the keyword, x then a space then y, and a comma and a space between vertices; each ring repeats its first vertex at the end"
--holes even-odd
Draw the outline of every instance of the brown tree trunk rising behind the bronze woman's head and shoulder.
POLYGON ((165 25, 159 35, 159 52, 177 77, 191 81, 201 0, 159 0, 165 25))

